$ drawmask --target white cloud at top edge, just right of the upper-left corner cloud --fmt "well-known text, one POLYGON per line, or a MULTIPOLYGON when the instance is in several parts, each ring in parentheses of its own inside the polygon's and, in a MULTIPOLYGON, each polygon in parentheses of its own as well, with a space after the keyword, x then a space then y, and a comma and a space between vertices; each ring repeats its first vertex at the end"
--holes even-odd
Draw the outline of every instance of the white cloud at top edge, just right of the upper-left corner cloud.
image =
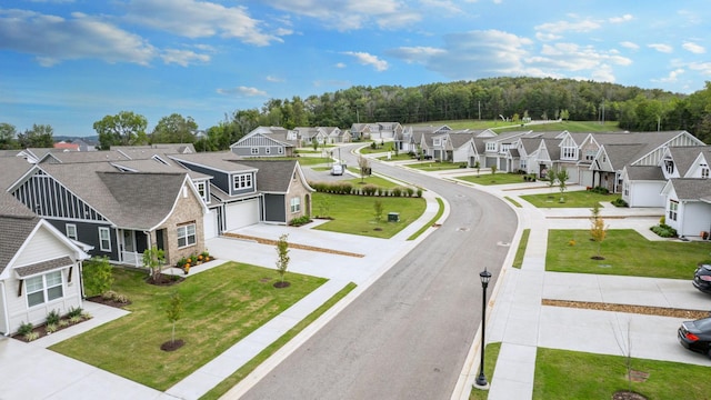
POLYGON ((196 0, 132 0, 126 7, 128 21, 188 38, 220 36, 268 46, 291 33, 288 29, 266 33, 264 23, 251 18, 244 7, 196 0))

